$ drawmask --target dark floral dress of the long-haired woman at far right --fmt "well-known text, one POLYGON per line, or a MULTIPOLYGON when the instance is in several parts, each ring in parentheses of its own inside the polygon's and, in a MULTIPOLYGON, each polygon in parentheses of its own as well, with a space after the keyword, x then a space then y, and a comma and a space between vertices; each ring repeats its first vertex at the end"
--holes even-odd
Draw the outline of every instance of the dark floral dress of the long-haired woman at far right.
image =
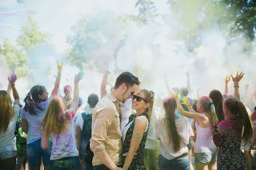
MULTIPOLYGON (((242 126, 239 129, 242 132, 242 126)), ((245 156, 241 151, 241 135, 229 120, 221 121, 214 125, 213 140, 218 153, 218 170, 245 169, 245 156), (217 128, 223 132, 223 136, 217 128)))

